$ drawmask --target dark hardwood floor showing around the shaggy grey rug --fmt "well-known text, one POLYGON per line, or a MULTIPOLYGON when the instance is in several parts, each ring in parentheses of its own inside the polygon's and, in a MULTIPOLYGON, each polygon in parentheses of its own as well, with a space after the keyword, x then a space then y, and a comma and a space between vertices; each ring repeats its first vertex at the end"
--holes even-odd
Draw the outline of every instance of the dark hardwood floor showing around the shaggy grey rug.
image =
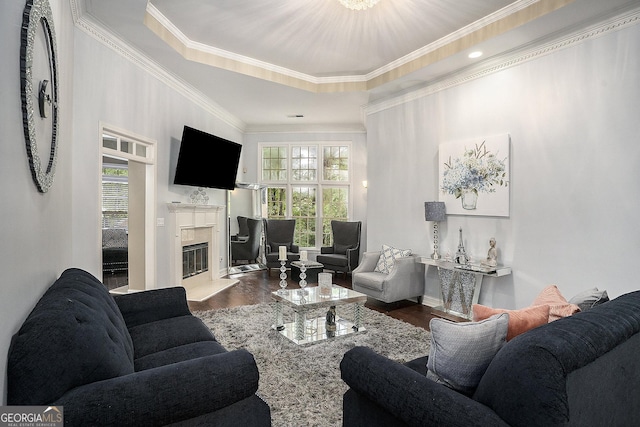
MULTIPOLYGON (((199 311, 268 303, 271 302, 271 292, 280 289, 278 286, 280 275, 276 270, 272 270, 271 273, 267 270, 253 271, 232 277, 238 279, 240 283, 219 292, 206 301, 189 302, 189 308, 193 311, 199 311)), ((351 276, 347 275, 345 277, 344 274, 334 274, 333 283, 351 288, 351 276)), ((297 283, 288 280, 288 289, 297 288, 299 288, 297 283)), ((465 320, 409 300, 385 304, 373 298, 368 298, 365 306, 427 330, 429 329, 429 321, 434 317, 443 317, 454 321, 465 320)))

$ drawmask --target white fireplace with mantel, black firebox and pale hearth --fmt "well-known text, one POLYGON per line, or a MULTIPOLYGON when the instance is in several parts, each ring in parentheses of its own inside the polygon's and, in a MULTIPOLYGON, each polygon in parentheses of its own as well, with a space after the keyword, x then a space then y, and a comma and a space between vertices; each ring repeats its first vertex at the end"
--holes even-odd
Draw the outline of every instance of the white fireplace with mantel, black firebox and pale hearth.
MULTIPOLYGON (((220 220, 224 206, 169 203, 171 250, 171 285, 183 286, 187 298, 202 301, 237 280, 223 279, 220 274, 220 220)), ((226 241, 225 241, 226 244, 226 241)))

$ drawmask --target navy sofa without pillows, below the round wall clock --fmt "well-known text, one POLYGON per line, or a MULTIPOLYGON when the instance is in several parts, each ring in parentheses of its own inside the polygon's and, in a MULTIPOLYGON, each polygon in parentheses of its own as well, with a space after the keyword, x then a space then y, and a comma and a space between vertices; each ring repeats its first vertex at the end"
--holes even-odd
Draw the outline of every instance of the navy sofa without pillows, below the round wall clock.
POLYGON ((112 297, 66 270, 14 335, 8 405, 64 407, 67 426, 270 426, 246 350, 227 351, 184 288, 112 297))

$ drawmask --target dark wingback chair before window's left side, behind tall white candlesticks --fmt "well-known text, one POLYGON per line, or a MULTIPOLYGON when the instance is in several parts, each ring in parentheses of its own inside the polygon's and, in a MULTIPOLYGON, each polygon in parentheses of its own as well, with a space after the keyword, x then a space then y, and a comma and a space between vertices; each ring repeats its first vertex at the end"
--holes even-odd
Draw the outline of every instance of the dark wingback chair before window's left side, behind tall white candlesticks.
POLYGON ((264 219, 264 256, 267 268, 280 268, 279 248, 287 247, 287 263, 291 268, 291 261, 300 259, 300 248, 293 243, 293 235, 296 231, 295 219, 264 219))

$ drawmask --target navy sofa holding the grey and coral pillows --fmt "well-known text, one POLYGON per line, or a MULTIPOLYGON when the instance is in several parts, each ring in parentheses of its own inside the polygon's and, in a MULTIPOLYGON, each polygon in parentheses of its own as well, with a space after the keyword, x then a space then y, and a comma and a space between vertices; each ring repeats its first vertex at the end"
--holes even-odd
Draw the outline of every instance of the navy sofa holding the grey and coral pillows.
POLYGON ((640 422, 640 291, 509 341, 474 393, 366 347, 340 365, 344 426, 632 426, 640 422))

